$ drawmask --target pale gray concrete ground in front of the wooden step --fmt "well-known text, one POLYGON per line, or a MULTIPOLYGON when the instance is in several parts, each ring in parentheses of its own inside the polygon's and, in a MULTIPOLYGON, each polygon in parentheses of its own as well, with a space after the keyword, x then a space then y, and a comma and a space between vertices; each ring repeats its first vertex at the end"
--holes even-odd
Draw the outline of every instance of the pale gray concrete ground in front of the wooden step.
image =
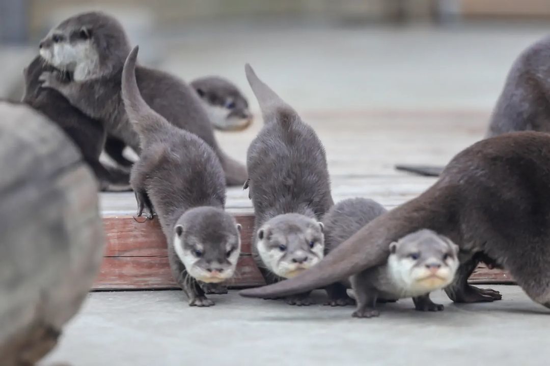
POLYGON ((443 312, 404 299, 376 319, 235 291, 211 308, 187 306, 180 291, 96 292, 43 365, 548 365, 550 311, 518 286, 492 288, 502 301, 456 305, 441 291, 443 312))

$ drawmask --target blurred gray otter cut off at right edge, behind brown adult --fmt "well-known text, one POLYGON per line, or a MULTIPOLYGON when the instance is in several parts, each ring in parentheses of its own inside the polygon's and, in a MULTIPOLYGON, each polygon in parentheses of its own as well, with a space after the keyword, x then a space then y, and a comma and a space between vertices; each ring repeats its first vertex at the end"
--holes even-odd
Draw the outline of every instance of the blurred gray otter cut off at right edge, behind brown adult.
MULTIPOLYGON (((550 37, 523 50, 514 60, 491 115, 485 138, 516 131, 550 132, 550 37)), ((395 166, 397 170, 437 177, 442 166, 395 166)))

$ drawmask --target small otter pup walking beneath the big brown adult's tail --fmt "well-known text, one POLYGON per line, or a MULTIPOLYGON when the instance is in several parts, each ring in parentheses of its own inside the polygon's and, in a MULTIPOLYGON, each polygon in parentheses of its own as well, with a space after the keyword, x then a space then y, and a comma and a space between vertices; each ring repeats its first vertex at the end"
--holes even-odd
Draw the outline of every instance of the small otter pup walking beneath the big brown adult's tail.
MULTIPOLYGON (((338 202, 323 217, 327 252, 386 212, 382 205, 364 198, 338 202)), ((377 301, 395 301, 404 297, 412 297, 417 310, 443 310, 443 305, 430 300, 430 292, 452 282, 458 268, 458 246, 431 230, 419 230, 391 243, 389 251, 386 264, 351 276, 357 299, 353 316, 378 316, 377 301)), ((339 289, 339 301, 345 301, 350 281, 332 285, 339 289)))

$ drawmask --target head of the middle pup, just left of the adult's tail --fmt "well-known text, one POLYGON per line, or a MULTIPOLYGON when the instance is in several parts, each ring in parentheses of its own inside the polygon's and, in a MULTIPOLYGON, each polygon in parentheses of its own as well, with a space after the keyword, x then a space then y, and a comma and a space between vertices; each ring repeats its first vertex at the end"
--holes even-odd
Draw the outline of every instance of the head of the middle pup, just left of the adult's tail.
POLYGON ((298 213, 267 221, 256 233, 262 262, 279 277, 292 278, 323 258, 323 224, 298 213))

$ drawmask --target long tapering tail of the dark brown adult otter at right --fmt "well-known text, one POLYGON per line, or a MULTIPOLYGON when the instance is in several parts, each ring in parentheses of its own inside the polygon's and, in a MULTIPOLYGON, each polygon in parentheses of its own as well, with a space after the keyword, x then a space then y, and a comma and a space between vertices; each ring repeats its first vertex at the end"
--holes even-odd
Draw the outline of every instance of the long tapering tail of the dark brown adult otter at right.
POLYGON ((410 216, 411 205, 414 203, 409 202, 378 216, 338 245, 321 262, 298 276, 272 285, 242 290, 239 295, 263 298, 300 294, 383 264, 388 259, 392 241, 422 228, 423 221, 406 219, 410 216))

